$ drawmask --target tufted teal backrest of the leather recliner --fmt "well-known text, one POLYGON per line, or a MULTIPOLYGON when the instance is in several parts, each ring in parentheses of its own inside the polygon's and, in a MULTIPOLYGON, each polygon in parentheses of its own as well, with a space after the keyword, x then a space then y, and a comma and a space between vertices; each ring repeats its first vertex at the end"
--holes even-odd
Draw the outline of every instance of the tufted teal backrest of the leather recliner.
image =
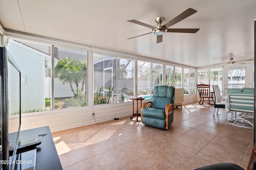
POLYGON ((167 104, 174 104, 173 86, 154 86, 152 97, 152 108, 165 109, 167 104))

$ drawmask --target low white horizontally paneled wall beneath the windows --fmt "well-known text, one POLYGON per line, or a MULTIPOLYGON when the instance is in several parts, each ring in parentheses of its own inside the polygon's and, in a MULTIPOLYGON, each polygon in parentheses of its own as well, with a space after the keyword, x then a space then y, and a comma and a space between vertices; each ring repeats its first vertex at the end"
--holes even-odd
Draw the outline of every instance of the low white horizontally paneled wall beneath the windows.
MULTIPOLYGON (((88 109, 88 107, 76 107, 54 111, 22 114, 21 130, 49 126, 51 132, 55 132, 64 129, 90 125, 95 123, 94 118, 91 117, 91 112, 95 113, 95 119, 98 123, 102 121, 113 120, 114 118, 127 117, 132 115, 132 102, 125 102, 119 105, 107 105, 108 106, 98 105, 94 109, 88 109)), ((135 107, 134 109, 136 109, 135 107)), ((17 131, 16 126, 10 125, 17 124, 18 115, 10 117, 10 133, 17 131)))

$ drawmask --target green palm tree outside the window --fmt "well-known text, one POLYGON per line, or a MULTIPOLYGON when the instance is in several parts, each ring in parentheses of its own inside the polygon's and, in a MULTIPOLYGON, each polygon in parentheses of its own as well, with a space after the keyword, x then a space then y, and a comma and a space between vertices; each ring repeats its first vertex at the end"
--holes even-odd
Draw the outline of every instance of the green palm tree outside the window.
POLYGON ((73 60, 72 57, 66 57, 58 62, 54 69, 54 76, 59 75, 59 80, 63 84, 68 83, 70 85, 71 91, 74 94, 74 97, 78 97, 78 85, 82 83, 81 90, 84 89, 84 84, 86 82, 86 70, 87 62, 82 60, 73 60), (72 87, 72 84, 76 84, 76 92, 72 87))

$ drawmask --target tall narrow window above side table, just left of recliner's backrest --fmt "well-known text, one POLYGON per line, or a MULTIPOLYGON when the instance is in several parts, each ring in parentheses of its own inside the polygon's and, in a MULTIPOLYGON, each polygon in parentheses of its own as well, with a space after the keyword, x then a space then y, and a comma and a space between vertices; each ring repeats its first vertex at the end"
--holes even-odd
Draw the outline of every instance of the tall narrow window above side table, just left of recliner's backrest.
POLYGON ((146 99, 151 98, 151 63, 146 61, 138 61, 138 96, 145 96, 146 99))

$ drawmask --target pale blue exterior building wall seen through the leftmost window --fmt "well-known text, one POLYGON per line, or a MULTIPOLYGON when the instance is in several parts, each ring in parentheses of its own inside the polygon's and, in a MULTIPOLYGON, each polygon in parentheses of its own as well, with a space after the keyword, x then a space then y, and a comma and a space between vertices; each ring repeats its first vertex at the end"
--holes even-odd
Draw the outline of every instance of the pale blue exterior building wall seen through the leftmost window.
MULTIPOLYGON (((32 110, 44 111, 44 57, 14 43, 7 46, 9 55, 18 64, 21 76, 26 76, 26 80, 21 84, 22 113, 32 110)), ((13 93, 12 86, 16 85, 10 84, 10 94, 13 93)), ((15 94, 14 96, 17 97, 15 94)))

